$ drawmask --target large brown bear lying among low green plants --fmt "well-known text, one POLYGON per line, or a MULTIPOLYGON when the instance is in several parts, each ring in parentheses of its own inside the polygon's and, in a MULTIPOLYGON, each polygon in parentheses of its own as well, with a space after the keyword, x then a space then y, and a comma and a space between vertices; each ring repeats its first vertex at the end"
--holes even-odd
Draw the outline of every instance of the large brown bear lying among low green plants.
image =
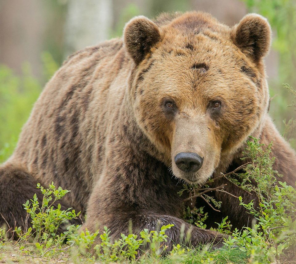
MULTIPOLYGON (((295 184, 295 152, 267 113, 270 34, 257 14, 231 28, 202 12, 138 16, 123 38, 70 56, 0 168, 5 221, 23 225, 22 204, 37 182, 54 181, 72 190, 61 204, 86 213, 92 232, 107 226, 115 239, 130 222, 134 233, 170 223, 168 244, 179 242, 183 226, 193 246, 222 245, 221 234, 179 218, 183 182, 203 184, 241 164, 253 135, 273 140, 274 169, 295 184)), ((221 214, 248 223, 237 201, 219 198, 221 214)))

